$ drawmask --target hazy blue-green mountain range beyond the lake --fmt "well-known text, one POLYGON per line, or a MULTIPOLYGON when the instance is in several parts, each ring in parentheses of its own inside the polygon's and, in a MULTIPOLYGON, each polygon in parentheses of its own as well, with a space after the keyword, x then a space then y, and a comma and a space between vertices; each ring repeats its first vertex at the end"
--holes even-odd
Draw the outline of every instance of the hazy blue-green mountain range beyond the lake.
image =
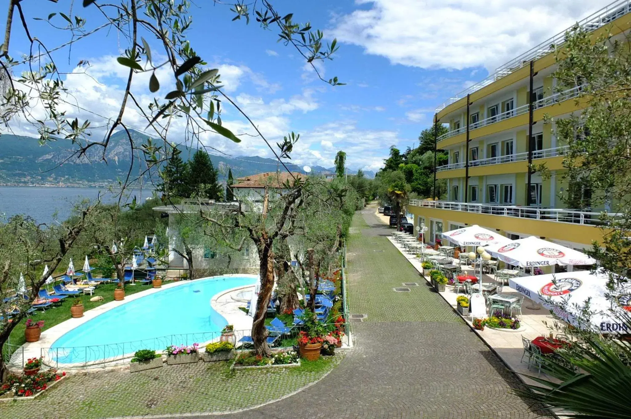
MULTIPOLYGON (((131 130, 134 144, 138 146, 147 140, 146 134, 131 130)), ((161 144, 162 141, 156 141, 161 144)), ((184 160, 192 157, 195 148, 180 145, 184 160)), ((103 149, 93 146, 84 156, 73 156, 72 150, 77 146, 69 140, 48 141, 40 145, 37 138, 16 136, 13 134, 0 135, 0 186, 108 186, 117 179, 124 180, 131 163, 131 153, 126 133, 119 131, 110 138, 105 152, 107 163, 101 157, 103 149)), ((138 151, 136 151, 138 152, 138 151)), ((235 178, 264 172, 284 170, 277 160, 259 156, 220 156, 209 155, 215 168, 218 169, 220 180, 228 175, 228 168, 232 169, 235 178)), ((141 159, 134 158, 131 175, 138 176, 141 172, 141 159)), ((305 173, 300 165, 285 162, 292 172, 305 173)), ((334 172, 335 168, 321 166, 311 167, 311 173, 322 174, 334 172)), ((348 170, 348 174, 356 174, 348 170)), ((374 172, 364 172, 366 177, 374 177, 374 172)), ((156 178, 154 178, 156 179, 156 178)))

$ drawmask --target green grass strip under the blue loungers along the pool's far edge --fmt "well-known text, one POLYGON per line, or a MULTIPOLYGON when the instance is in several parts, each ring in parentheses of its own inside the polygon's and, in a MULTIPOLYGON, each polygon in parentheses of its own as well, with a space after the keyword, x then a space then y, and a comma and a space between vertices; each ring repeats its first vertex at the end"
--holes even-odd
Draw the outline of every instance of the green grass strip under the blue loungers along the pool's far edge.
MULTIPOLYGON (((114 301, 114 288, 116 288, 116 283, 109 284, 101 284, 94 290, 93 295, 79 295, 76 298, 80 298, 83 300, 83 309, 84 311, 88 311, 93 309, 94 307, 98 307, 99 305, 105 304, 110 301, 114 301), (90 301, 90 298, 96 297, 97 295, 101 295, 103 297, 103 301, 90 301)), ((126 285, 125 286, 125 295, 131 295, 140 291, 148 290, 151 288, 151 284, 148 285, 126 285)), ((70 314, 70 307, 73 305, 75 301, 75 297, 68 297, 62 300, 62 304, 57 307, 47 309, 45 312, 42 310, 37 310, 32 312, 30 317, 33 321, 43 320, 44 327, 42 331, 46 329, 52 328, 56 324, 59 324, 63 321, 70 319, 72 316, 70 314)), ((28 317, 27 317, 28 318, 28 317)), ((11 336, 9 337, 9 343, 11 345, 23 345, 26 342, 24 338, 24 329, 26 328, 25 323, 27 319, 15 326, 15 329, 11 332, 11 336)))

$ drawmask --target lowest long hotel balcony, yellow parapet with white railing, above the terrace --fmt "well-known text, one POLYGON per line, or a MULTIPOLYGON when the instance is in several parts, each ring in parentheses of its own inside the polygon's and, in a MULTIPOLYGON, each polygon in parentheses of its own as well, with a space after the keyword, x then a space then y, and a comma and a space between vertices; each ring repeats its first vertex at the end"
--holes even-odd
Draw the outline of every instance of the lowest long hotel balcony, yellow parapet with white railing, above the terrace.
MULTIPOLYGON (((498 204, 412 199, 408 211, 429 220, 460 225, 478 224, 497 231, 520 232, 550 239, 591 244, 602 240, 601 213, 498 204)), ((611 216, 616 216, 610 213, 611 216)))

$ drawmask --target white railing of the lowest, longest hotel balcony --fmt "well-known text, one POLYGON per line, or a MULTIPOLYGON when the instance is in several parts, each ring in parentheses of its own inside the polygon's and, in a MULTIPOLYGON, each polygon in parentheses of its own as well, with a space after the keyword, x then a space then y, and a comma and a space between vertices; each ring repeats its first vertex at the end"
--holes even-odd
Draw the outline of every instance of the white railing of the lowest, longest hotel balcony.
MULTIPOLYGON (((497 204, 473 204, 447 201, 431 201, 427 199, 411 199, 410 205, 423 206, 427 208, 438 208, 440 210, 461 211, 465 213, 477 213, 507 216, 514 218, 528 218, 529 220, 555 221, 558 223, 581 224, 601 226, 601 213, 575 210, 557 210, 548 208, 534 208, 528 206, 506 206, 497 204)), ((610 216, 618 216, 615 213, 608 213, 610 216)))

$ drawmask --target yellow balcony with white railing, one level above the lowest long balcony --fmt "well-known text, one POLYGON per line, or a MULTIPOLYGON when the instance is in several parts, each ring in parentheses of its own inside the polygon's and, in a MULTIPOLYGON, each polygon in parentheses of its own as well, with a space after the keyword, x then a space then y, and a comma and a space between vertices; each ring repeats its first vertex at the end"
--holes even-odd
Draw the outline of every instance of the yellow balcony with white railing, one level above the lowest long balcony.
MULTIPOLYGON (((533 151, 533 160, 537 160, 540 158, 553 158, 558 157, 553 160, 549 160, 546 162, 546 166, 550 170, 558 170, 562 168, 563 163, 563 155, 568 150, 568 146, 558 146, 553 148, 545 148, 544 150, 535 150, 533 151)), ((533 163, 539 163, 534 162, 533 163)), ((438 179, 452 178, 452 177, 464 177, 464 167, 465 163, 451 163, 448 165, 442 165, 436 168, 437 172, 445 172, 447 170, 456 170, 462 169, 458 172, 445 172, 442 174, 438 174, 438 179)), ((509 174, 509 173, 521 173, 528 171, 528 151, 524 151, 522 153, 515 153, 512 155, 505 156, 495 156, 482 158, 480 160, 469 160, 469 176, 484 176, 484 175, 497 175, 497 174, 509 174), (519 163, 521 162, 521 163, 519 163), (512 164, 516 163, 516 164, 512 164), (487 170, 487 167, 490 165, 494 165, 495 167, 487 170), (502 166, 497 166, 502 165, 502 166)))

